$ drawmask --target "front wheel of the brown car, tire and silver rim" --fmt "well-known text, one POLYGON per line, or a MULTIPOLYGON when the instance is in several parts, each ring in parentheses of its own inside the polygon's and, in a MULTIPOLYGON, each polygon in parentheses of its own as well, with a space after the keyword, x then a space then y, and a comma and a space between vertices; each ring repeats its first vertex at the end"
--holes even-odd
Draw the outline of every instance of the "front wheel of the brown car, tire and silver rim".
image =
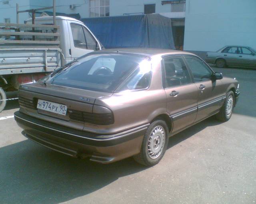
POLYGON ((216 114, 216 118, 222 122, 228 121, 233 113, 235 104, 234 92, 229 91, 226 95, 225 102, 220 108, 220 112, 216 114))

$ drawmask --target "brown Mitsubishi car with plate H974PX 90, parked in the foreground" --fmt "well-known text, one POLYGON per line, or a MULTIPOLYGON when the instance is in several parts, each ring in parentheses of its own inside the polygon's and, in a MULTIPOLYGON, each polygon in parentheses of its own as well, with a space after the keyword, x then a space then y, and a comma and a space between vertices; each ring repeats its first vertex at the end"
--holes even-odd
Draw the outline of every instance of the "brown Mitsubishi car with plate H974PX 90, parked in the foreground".
POLYGON ((170 136, 215 114, 229 120, 238 96, 237 80, 191 53, 109 49, 23 84, 14 116, 24 136, 61 153, 152 166, 170 136))

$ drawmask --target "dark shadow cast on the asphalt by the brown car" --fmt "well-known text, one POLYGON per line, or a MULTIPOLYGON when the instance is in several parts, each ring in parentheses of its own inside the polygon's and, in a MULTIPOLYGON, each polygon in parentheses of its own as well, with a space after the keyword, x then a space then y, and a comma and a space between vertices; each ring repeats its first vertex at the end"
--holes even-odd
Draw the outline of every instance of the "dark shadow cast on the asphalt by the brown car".
MULTIPOLYGON (((200 122, 171 137, 168 148, 218 124, 214 118, 200 122)), ((147 168, 132 158, 108 165, 79 160, 24 140, 0 148, 1 203, 66 202, 147 168)))

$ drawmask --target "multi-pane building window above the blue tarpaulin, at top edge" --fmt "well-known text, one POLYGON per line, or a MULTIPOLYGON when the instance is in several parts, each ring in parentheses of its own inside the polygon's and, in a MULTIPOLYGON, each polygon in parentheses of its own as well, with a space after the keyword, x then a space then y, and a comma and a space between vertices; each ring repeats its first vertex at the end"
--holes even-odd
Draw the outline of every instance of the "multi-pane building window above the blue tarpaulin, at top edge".
POLYGON ((90 0, 90 17, 109 16, 109 0, 90 0))

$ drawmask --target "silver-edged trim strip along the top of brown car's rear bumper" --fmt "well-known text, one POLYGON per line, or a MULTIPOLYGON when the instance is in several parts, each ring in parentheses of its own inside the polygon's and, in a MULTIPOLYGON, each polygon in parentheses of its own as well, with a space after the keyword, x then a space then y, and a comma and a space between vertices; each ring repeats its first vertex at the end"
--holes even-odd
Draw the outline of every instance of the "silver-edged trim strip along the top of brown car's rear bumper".
MULTIPOLYGON (((54 130, 54 131, 58 131, 60 133, 64 133, 64 134, 68 134, 68 135, 72 135, 72 136, 75 136, 75 137, 80 137, 80 138, 83 138, 83 139, 90 139, 90 140, 95 140, 95 141, 108 141, 108 140, 113 140, 113 139, 118 139, 118 138, 121 138, 121 137, 125 137, 125 136, 128 136, 128 135, 132 135, 134 133, 137 133, 139 131, 142 131, 142 130, 145 130, 148 128, 149 124, 145 124, 145 125, 142 125, 142 126, 139 126, 137 128, 132 128, 130 130, 126 130, 126 131, 123 131, 123 132, 120 132, 120 133, 116 133, 116 134, 112 134, 112 135, 106 135, 110 138, 107 138, 107 139, 94 139, 94 138, 90 138, 90 137, 84 137, 84 136, 81 136, 81 135, 75 135, 75 134, 72 134, 72 133, 67 133, 67 132, 64 132, 64 131, 60 131, 60 130, 57 130, 57 129, 53 129, 53 128, 49 128, 47 126, 43 126, 43 125, 40 125, 40 124, 36 124, 34 122, 31 122, 29 120, 25 120, 23 118, 20 118, 18 116, 14 116, 16 118, 19 118, 20 120, 24 120, 26 122, 29 122, 31 124, 34 124, 34 125, 37 125, 37 126, 41 126, 43 128, 47 128, 47 129, 51 129, 51 130, 54 130)), ((104 137, 105 135, 100 135, 102 137, 104 137)))

